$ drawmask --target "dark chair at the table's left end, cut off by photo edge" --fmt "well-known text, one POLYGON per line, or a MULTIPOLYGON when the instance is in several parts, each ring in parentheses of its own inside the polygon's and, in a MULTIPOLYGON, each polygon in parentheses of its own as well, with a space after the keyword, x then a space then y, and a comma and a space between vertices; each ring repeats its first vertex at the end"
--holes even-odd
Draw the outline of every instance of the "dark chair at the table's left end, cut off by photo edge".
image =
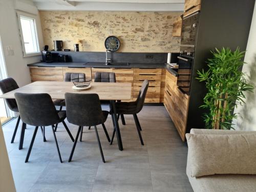
MULTIPOLYGON (((3 92, 3 94, 8 93, 8 92, 13 91, 18 88, 19 88, 18 84, 16 83, 16 81, 13 78, 6 78, 6 79, 3 79, 0 81, 0 89, 3 92)), ((15 99, 5 99, 5 101, 11 111, 18 112, 18 106, 17 106, 15 99)), ((16 132, 18 129, 19 121, 20 121, 20 116, 18 116, 17 123, 16 123, 15 129, 14 129, 13 135, 12 135, 11 143, 14 142, 15 135, 16 135, 16 132)), ((23 125, 23 126, 25 126, 25 125, 23 125)))

